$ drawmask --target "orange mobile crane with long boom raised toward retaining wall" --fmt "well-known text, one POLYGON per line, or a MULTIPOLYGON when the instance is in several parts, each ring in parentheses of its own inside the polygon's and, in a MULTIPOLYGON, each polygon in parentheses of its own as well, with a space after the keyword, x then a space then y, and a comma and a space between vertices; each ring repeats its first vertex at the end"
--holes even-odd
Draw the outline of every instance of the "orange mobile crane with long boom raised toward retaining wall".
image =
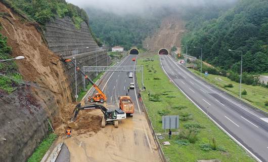
MULTIPOLYGON (((71 62, 75 66, 75 63, 71 59, 65 59, 65 62, 71 62)), ((85 79, 89 80, 90 83, 93 84, 93 87, 98 92, 98 93, 94 94, 93 96, 88 96, 88 101, 101 102, 101 103, 105 102, 107 98, 106 98, 105 94, 102 92, 102 90, 77 65, 76 65, 76 70, 80 71, 84 75, 85 79)))

